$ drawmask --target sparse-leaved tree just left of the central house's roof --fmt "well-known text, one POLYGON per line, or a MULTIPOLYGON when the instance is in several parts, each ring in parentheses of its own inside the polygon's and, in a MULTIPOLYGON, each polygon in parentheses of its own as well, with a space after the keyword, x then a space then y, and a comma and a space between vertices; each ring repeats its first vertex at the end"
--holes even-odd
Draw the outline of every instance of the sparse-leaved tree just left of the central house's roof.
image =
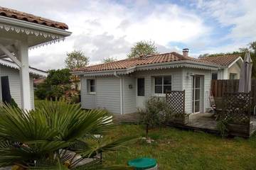
MULTIPOLYGON (((65 65, 68 69, 79 69, 82 67, 86 67, 87 64, 89 64, 89 57, 85 56, 85 53, 81 50, 74 50, 73 52, 67 53, 65 65)), ((78 91, 80 77, 73 75, 71 79, 75 84, 75 90, 78 91)))

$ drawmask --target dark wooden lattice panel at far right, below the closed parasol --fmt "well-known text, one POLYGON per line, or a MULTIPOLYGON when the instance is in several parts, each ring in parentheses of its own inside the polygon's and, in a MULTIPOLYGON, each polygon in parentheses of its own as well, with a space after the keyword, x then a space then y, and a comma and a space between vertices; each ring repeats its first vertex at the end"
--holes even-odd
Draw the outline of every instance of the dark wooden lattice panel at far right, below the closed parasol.
POLYGON ((250 93, 224 93, 222 119, 229 123, 248 125, 250 123, 250 93))

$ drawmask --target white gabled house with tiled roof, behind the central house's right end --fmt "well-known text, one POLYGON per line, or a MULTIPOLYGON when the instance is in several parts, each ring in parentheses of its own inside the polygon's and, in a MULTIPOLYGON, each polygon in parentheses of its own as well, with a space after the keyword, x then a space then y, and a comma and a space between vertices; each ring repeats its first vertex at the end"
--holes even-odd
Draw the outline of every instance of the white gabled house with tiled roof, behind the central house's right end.
POLYGON ((220 55, 203 57, 200 60, 220 65, 218 72, 212 72, 212 79, 240 79, 242 57, 240 55, 220 55))

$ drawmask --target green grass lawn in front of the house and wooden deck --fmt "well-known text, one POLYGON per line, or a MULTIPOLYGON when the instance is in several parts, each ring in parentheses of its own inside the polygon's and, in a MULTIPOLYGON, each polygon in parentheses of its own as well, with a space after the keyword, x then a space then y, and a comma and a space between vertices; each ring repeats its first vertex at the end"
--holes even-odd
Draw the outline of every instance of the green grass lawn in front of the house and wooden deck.
MULTIPOLYGON (((115 137, 144 136, 140 125, 119 125, 112 132, 115 137)), ((256 137, 222 139, 204 132, 175 128, 151 130, 153 144, 137 142, 125 152, 104 154, 104 163, 126 164, 137 157, 157 159, 160 169, 256 169, 256 137)))

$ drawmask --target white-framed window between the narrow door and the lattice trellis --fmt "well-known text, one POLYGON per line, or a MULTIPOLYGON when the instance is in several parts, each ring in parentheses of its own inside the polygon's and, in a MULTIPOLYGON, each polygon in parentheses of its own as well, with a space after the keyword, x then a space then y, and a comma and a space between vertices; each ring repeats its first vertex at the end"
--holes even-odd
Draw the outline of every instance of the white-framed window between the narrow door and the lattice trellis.
POLYGON ((154 77, 154 94, 165 94, 171 91, 171 76, 154 77))

